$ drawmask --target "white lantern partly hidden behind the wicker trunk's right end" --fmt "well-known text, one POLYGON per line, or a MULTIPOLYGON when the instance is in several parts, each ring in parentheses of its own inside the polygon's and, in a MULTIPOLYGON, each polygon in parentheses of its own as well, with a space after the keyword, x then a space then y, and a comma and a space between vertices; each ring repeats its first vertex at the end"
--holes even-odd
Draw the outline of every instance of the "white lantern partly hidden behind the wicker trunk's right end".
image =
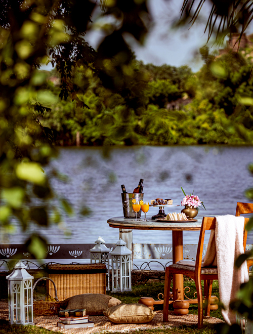
POLYGON ((104 263, 107 267, 107 273, 106 273, 106 281, 107 286, 106 290, 110 290, 110 279, 109 279, 109 273, 110 273, 110 249, 106 247, 105 240, 102 237, 98 237, 98 239, 95 241, 95 246, 90 249, 91 253, 91 263, 104 263))

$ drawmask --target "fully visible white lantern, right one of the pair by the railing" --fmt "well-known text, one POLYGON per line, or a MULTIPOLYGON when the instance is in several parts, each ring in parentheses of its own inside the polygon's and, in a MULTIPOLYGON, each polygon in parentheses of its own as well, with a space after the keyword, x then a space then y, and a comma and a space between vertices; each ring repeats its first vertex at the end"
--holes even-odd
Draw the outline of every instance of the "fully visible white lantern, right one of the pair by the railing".
POLYGON ((112 261, 112 292, 131 291, 131 255, 125 246, 126 242, 119 239, 111 252, 112 261))

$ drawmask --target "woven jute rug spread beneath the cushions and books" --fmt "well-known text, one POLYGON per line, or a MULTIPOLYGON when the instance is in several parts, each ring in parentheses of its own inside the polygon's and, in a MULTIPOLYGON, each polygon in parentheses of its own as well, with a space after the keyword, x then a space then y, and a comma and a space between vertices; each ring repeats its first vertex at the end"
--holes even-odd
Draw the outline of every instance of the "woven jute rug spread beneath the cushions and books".
MULTIPOLYGON (((154 318, 148 322, 143 324, 116 324, 111 322, 105 316, 90 316, 89 320, 94 321, 94 327, 91 328, 59 328, 57 327, 58 316, 36 316, 33 318, 34 325, 37 327, 44 327, 46 329, 52 331, 60 331, 62 333, 83 333, 83 334, 93 334, 97 332, 131 332, 135 330, 144 330, 144 329, 154 329, 154 328, 172 328, 175 326, 191 326, 197 325, 198 316, 195 314, 187 314, 187 315, 174 315, 173 311, 169 311, 168 314, 168 322, 162 321, 162 310, 157 311, 154 318)), ((0 319, 8 320, 8 303, 0 301, 0 319)), ((224 322, 221 319, 217 319, 214 317, 204 317, 203 323, 207 324, 217 324, 220 322, 224 322)))

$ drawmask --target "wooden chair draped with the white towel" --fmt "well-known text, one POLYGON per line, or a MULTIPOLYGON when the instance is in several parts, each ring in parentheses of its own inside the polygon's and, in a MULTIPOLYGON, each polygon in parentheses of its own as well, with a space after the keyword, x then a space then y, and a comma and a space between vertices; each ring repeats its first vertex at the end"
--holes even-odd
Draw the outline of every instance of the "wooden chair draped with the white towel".
MULTIPOLYGON (((245 230, 248 218, 244 219, 244 235, 243 235, 243 246, 245 251, 247 231, 245 230)), ((164 280, 164 294, 163 294, 163 321, 168 322, 168 304, 170 299, 170 286, 172 275, 182 274, 191 277, 195 281, 197 298, 198 298, 198 328, 203 326, 203 297, 201 280, 204 280, 204 297, 205 301, 205 315, 210 315, 210 299, 212 295, 213 280, 218 279, 217 267, 203 267, 201 268, 204 236, 206 230, 214 230, 216 226, 216 218, 214 217, 203 217, 201 230, 199 234, 197 255, 195 267, 173 264, 165 268, 165 280, 164 280)))

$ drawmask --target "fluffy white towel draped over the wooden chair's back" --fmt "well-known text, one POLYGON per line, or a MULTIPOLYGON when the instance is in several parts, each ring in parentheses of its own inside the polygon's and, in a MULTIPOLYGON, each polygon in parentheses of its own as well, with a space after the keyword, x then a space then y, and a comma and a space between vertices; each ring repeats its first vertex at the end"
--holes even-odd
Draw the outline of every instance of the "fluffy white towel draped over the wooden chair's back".
MULTIPOLYGON (((246 261, 235 268, 235 260, 244 253, 243 249, 244 217, 232 215, 216 217, 216 229, 210 233, 206 254, 202 267, 217 266, 220 301, 224 305, 222 315, 228 324, 235 323, 235 313, 229 309, 229 304, 236 299, 240 285, 248 281, 246 261)), ((195 261, 181 260, 182 265, 195 266, 195 261)))

